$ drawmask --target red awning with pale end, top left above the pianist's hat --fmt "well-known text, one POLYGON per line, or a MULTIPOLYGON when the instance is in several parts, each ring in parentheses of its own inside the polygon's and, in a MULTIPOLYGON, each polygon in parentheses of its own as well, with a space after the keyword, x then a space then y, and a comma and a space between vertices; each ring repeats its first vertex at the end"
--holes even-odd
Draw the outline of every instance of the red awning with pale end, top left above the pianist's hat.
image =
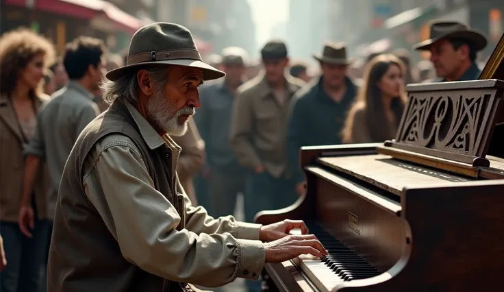
MULTIPOLYGON (((22 7, 27 5, 26 0, 6 0, 5 3, 22 7)), ((110 26, 110 30, 123 30, 130 34, 142 26, 136 17, 103 0, 37 0, 34 1, 32 9, 90 21, 106 20, 105 23, 110 26)))

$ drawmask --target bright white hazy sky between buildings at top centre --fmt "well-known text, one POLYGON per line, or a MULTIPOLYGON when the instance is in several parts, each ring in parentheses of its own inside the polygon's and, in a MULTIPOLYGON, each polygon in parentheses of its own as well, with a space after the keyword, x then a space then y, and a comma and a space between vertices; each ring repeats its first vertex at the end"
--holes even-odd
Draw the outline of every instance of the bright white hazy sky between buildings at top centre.
MULTIPOLYGON (((289 0, 248 0, 255 22, 257 45, 261 47, 270 37, 270 29, 288 17, 289 0)), ((303 0, 304 1, 304 0, 303 0)))

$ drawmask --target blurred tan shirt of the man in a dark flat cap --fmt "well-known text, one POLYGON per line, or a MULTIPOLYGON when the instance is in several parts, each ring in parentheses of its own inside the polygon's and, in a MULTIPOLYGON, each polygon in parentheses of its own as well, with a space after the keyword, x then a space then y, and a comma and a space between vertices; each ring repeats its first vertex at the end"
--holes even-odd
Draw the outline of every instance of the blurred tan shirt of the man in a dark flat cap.
POLYGON ((266 76, 238 88, 231 119, 229 141, 240 163, 248 169, 263 166, 276 178, 288 175, 286 127, 292 95, 305 83, 286 75, 286 102, 279 103, 266 76))

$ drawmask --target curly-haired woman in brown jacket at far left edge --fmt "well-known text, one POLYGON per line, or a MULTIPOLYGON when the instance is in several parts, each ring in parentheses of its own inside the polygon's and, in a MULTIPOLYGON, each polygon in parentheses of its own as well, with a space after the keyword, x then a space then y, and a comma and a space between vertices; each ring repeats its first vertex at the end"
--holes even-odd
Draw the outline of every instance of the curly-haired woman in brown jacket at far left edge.
POLYGON ((47 173, 39 170, 31 196, 36 214, 31 238, 18 227, 23 187, 25 145, 34 133, 44 101, 42 77, 54 58, 46 38, 28 29, 16 29, 0 38, 0 232, 7 266, 0 274, 0 291, 38 291, 40 268, 45 263, 47 221, 47 173))

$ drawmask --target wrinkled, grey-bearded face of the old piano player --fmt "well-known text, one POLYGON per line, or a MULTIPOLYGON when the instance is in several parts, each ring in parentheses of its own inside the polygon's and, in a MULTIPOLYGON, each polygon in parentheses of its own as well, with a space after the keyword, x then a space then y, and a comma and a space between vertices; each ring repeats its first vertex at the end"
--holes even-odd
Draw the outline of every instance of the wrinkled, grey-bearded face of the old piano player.
POLYGON ((201 106, 198 87, 203 84, 203 71, 186 66, 170 66, 166 83, 155 84, 147 101, 147 114, 169 135, 182 136, 195 108, 201 106))

